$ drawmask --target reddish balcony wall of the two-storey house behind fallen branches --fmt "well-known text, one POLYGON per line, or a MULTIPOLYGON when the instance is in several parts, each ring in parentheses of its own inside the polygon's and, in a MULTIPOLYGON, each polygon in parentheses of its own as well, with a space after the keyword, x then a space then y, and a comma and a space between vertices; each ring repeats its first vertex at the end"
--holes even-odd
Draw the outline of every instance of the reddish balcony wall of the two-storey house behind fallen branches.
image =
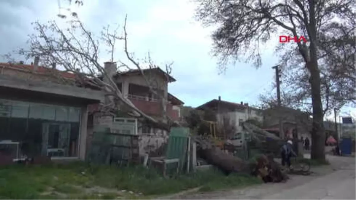
MULTIPOLYGON (((131 100, 133 105, 147 115, 162 116, 161 102, 159 102, 158 99, 130 94, 127 95, 127 98, 131 100)), ((167 104, 167 115, 174 121, 179 120, 179 112, 178 110, 173 110, 172 104, 167 104)))

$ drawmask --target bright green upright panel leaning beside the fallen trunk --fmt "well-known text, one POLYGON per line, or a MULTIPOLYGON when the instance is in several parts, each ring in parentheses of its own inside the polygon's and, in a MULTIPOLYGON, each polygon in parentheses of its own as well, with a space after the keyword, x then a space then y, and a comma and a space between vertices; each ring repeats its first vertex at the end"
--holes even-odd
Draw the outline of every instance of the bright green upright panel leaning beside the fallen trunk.
MULTIPOLYGON (((183 165, 186 161, 187 156, 187 144, 189 137, 189 128, 185 127, 174 127, 171 129, 169 133, 166 159, 175 159, 179 158, 180 169, 183 168, 183 165)), ((174 168, 174 163, 170 164, 171 166, 167 166, 169 171, 171 168, 174 168)), ((180 170, 181 171, 181 170, 180 170)))

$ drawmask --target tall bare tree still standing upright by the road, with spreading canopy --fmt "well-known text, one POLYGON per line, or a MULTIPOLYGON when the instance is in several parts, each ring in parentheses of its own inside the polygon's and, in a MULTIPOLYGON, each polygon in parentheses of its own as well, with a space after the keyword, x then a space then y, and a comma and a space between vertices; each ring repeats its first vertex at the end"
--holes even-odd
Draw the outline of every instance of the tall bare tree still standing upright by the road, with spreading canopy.
POLYGON ((276 46, 284 94, 313 110, 312 158, 325 159, 323 116, 332 103, 355 100, 354 0, 196 0, 196 17, 217 26, 212 34, 220 69, 230 61, 262 65, 261 45, 276 36, 307 42, 276 46), (344 85, 350 88, 344 89, 344 85), (327 97, 327 98, 325 98, 327 97))

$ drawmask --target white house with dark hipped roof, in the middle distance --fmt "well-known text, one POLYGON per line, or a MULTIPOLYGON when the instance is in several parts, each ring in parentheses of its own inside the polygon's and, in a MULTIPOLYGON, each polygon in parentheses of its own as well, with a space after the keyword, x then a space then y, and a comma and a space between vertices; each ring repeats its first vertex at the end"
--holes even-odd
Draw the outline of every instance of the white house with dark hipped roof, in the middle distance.
POLYGON ((197 110, 212 110, 216 112, 216 118, 220 124, 224 119, 228 119, 230 124, 235 125, 236 131, 242 131, 242 124, 246 120, 254 119, 262 122, 263 116, 261 110, 251 107, 248 103, 241 102, 240 104, 223 101, 220 96, 219 99, 213 99, 200 105, 197 110))

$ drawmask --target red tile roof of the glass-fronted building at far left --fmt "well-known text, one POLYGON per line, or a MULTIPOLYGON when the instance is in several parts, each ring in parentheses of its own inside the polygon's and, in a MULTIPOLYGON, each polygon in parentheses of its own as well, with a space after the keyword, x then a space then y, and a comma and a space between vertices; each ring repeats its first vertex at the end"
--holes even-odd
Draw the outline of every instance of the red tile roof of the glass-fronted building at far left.
MULTIPOLYGON (((26 70, 26 71, 35 71, 35 65, 28 65, 28 64, 12 64, 12 63, 0 63, 0 67, 11 67, 19 70, 26 70)), ((47 68, 43 66, 38 66, 36 69, 37 73, 40 74, 47 74, 47 73, 53 73, 57 72, 62 75, 63 78, 68 78, 68 79, 75 79, 75 74, 69 73, 69 72, 63 72, 58 69, 52 69, 52 68, 47 68)))

